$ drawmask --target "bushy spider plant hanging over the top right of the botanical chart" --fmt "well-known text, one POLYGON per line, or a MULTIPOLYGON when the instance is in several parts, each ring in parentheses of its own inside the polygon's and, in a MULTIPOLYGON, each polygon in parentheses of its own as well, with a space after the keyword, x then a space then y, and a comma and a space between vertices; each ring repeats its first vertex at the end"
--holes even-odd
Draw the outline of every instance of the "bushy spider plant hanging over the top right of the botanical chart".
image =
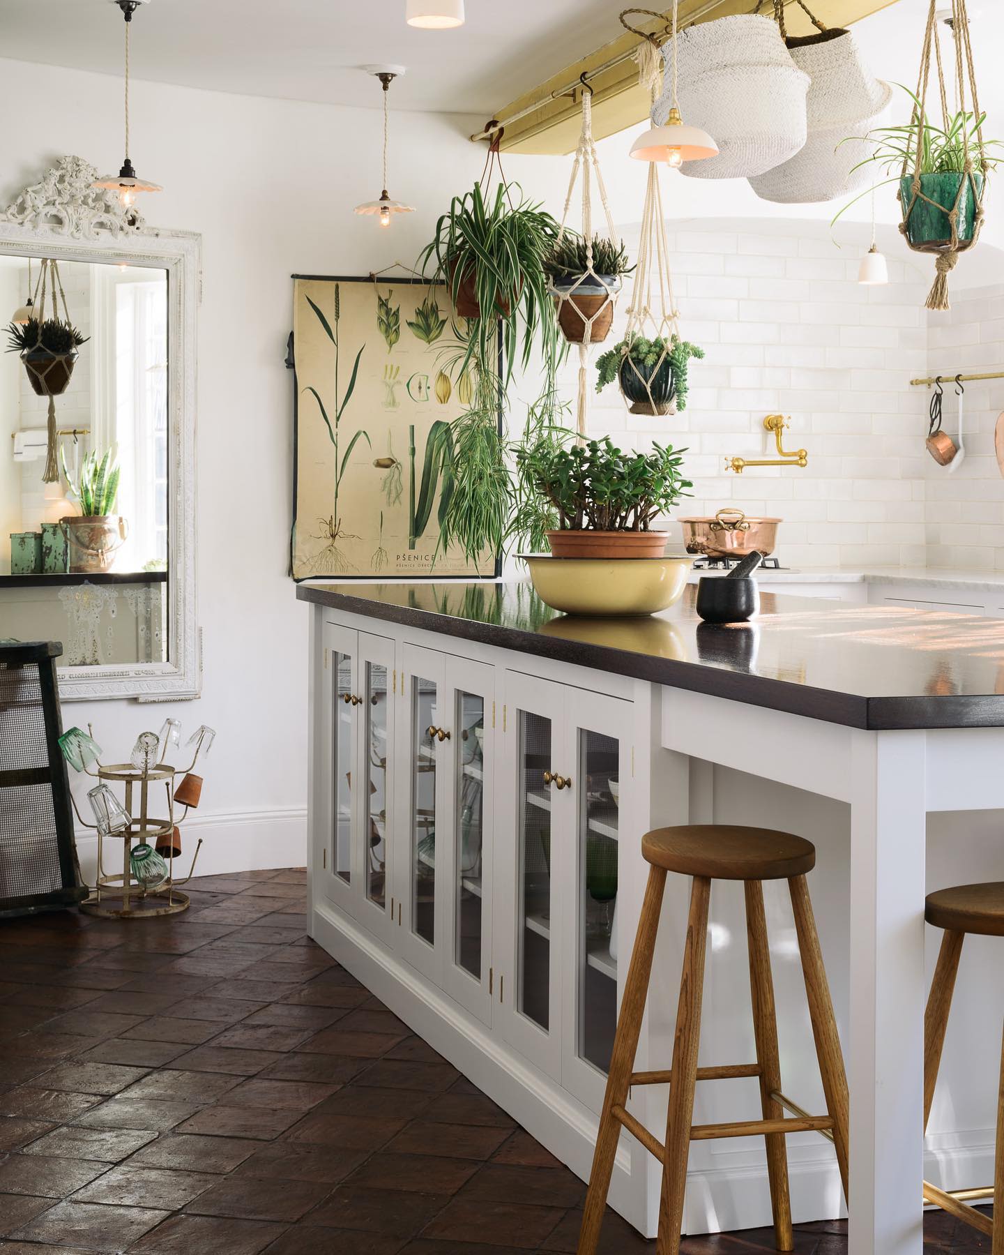
POLYGON ((530 365, 535 345, 546 360, 558 359, 561 338, 543 269, 557 235, 557 222, 516 183, 501 182, 488 197, 474 183, 472 191, 453 197, 419 256, 419 267, 423 272, 432 267, 432 279, 449 285, 454 305, 462 289, 477 301, 459 374, 474 364, 491 369, 498 330, 503 385, 517 360, 523 369, 530 365))

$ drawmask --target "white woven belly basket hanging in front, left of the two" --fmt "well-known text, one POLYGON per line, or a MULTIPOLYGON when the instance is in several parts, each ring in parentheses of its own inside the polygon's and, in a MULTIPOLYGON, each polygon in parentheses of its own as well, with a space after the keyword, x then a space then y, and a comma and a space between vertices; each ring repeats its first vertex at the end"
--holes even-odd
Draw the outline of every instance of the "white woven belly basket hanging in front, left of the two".
MULTIPOLYGON (((673 50, 663 46, 669 61, 673 50)), ((718 156, 684 162, 688 178, 749 178, 773 169, 806 143, 806 93, 799 70, 771 18, 738 14, 690 26, 678 38, 683 117, 714 136, 718 156)), ((673 107, 670 75, 653 105, 664 125, 673 107)))

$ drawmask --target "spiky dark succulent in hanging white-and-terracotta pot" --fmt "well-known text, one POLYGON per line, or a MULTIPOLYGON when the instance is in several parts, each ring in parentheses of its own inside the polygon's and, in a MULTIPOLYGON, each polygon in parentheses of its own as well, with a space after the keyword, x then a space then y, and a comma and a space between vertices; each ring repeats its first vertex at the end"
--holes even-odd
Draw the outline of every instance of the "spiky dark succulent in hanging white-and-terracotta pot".
POLYGON ((584 236, 566 231, 543 269, 555 296, 561 333, 570 344, 600 344, 614 324, 614 304, 628 265, 624 242, 606 236, 584 236))

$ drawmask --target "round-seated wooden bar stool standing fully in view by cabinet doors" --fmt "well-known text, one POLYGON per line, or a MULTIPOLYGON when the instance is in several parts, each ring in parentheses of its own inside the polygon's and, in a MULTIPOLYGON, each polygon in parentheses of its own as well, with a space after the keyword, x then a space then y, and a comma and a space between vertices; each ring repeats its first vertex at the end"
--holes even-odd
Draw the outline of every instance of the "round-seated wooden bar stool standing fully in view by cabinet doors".
POLYGON ((832 1137, 845 1197, 847 1195, 847 1079, 806 885, 806 872, 816 863, 816 847, 812 842, 787 832, 709 823, 656 828, 643 837, 641 853, 650 863, 649 882, 617 1019, 577 1255, 595 1255, 621 1128, 633 1133, 663 1163, 658 1255, 678 1255, 680 1249, 690 1142, 714 1137, 748 1137, 757 1133, 762 1133, 767 1143, 767 1172, 777 1247, 789 1251, 793 1249, 793 1237, 784 1142, 787 1133, 814 1130, 832 1137), (694 877, 676 1010, 676 1034, 673 1043, 673 1069, 633 1072, 651 975, 663 891, 666 872, 670 871, 694 877), (744 882, 757 1062, 699 1068, 704 950, 713 880, 744 882), (826 1116, 807 1114, 781 1092, 774 986, 771 978, 767 919, 763 909, 764 880, 787 880, 791 890, 816 1055, 826 1094, 826 1116), (763 1119, 730 1124, 692 1124, 695 1082, 732 1077, 759 1079, 763 1119), (631 1086, 666 1084, 670 1081, 666 1140, 663 1145, 625 1109, 625 1104, 631 1086), (786 1109, 793 1112, 794 1118, 786 1118, 786 1109))

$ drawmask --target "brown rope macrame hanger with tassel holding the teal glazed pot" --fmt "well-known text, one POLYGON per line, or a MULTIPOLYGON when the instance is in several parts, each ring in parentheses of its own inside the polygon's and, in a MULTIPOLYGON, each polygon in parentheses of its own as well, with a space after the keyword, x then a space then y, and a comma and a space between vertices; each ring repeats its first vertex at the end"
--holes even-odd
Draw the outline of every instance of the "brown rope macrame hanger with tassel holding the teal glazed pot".
MULTIPOLYGON (((955 45, 955 82, 958 88, 958 110, 965 114, 966 110, 966 85, 969 87, 969 100, 974 123, 980 119, 980 102, 976 90, 976 74, 973 65, 973 46, 969 40, 969 14, 966 13, 966 0, 951 0, 951 33, 955 45)), ((917 82, 919 105, 914 105, 912 123, 916 127, 916 146, 912 152, 907 152, 902 162, 902 178, 910 178, 910 201, 904 205, 900 231, 906 237, 907 246, 915 252, 936 252, 935 269, 937 271, 934 286, 927 296, 929 310, 946 310, 949 305, 949 275, 955 269, 959 254, 971 248, 979 238, 983 227, 984 211, 983 198, 986 195, 986 153, 983 141, 983 127, 975 125, 970 136, 969 125, 964 122, 961 128, 963 139, 963 177, 959 179, 959 191, 950 210, 945 211, 937 201, 932 201, 921 190, 921 163, 924 158, 925 124, 927 120, 927 87, 931 73, 931 51, 934 51, 935 65, 937 68, 937 90, 941 103, 941 118, 945 131, 949 129, 949 102, 945 89, 945 68, 941 64, 941 45, 937 41, 937 11, 936 0, 931 0, 927 11, 927 29, 924 33, 924 48, 920 54, 920 78, 917 82), (973 146, 979 154, 979 173, 981 179, 976 179, 974 168, 973 146), (965 212, 968 197, 973 197, 975 213, 973 231, 969 238, 959 236, 959 217, 965 212), (917 208, 917 202, 925 201, 927 205, 946 213, 951 226, 951 238, 949 241, 924 241, 914 243, 910 240, 909 227, 911 215, 917 208)))

